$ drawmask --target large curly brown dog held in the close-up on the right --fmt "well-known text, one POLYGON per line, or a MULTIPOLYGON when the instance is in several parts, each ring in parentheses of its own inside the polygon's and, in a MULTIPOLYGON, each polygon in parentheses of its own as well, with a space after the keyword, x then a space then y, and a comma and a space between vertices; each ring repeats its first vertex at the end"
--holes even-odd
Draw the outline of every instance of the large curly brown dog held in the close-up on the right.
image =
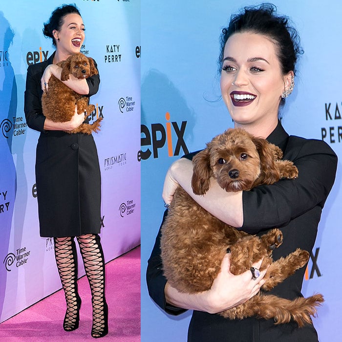
MULTIPOLYGON (((282 151, 265 139, 256 138, 240 128, 229 129, 194 156, 193 192, 206 193, 211 177, 227 192, 250 190, 260 184, 273 184, 281 178, 296 178, 297 168, 291 161, 281 158, 282 151)), ((209 290, 228 252, 231 253, 230 271, 235 275, 249 270, 254 262, 263 258, 260 270, 270 265, 262 286, 268 291, 303 267, 309 259, 307 251, 297 249, 273 262, 272 251, 282 243, 282 238, 279 229, 261 237, 236 230, 209 214, 178 187, 162 227, 164 275, 180 292, 209 290)), ((310 315, 316 313, 316 306, 322 301, 320 294, 288 300, 260 291, 220 315, 229 319, 273 318, 276 324, 294 320, 301 327, 312 323, 310 315)))

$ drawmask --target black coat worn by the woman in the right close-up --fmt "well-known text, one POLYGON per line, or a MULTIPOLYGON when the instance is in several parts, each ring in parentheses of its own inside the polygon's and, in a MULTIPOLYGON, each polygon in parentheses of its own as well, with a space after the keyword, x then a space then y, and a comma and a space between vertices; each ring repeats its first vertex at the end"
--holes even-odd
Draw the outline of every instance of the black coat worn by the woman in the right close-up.
MULTIPOLYGON (((321 210, 335 180, 337 156, 320 140, 289 136, 280 123, 267 140, 283 150, 284 159, 294 162, 298 167, 299 177, 295 180, 280 180, 273 185, 261 185, 243 192, 242 230, 262 235, 265 229, 280 228, 283 243, 273 252, 273 258, 277 260, 297 248, 312 251, 321 210)), ((192 159, 193 155, 194 153, 186 157, 192 159)), ((305 268, 298 270, 269 293, 287 299, 302 296, 300 291, 304 272, 305 268)), ((165 301, 166 278, 162 274, 160 231, 149 259, 147 283, 151 298, 163 310, 173 315, 185 311, 165 301)), ((193 311, 188 341, 315 342, 318 338, 312 325, 303 328, 298 328, 297 324, 292 322, 275 325, 273 320, 254 317, 231 321, 220 315, 193 311)))

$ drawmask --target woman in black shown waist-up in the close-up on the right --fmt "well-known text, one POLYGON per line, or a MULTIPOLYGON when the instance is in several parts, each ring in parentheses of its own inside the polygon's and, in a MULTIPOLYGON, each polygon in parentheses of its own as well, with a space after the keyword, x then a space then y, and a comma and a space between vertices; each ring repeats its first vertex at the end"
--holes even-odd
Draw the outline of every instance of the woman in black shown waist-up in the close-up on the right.
MULTIPOLYGON (((337 157, 320 140, 289 136, 278 121, 279 107, 295 85, 295 66, 301 51, 297 32, 289 26, 288 18, 278 17, 276 8, 266 4, 232 16, 220 42, 221 94, 235 127, 267 138, 281 148, 284 159, 297 166, 299 177, 234 193, 212 182, 211 189, 198 196, 191 188, 192 153, 169 169, 164 201, 172 201, 180 184, 208 212, 247 233, 262 235, 274 227, 281 229, 283 243, 273 252, 275 260, 297 248, 311 252, 321 210, 334 183, 337 157)), ((293 321, 275 325, 273 320, 256 317, 228 320, 216 315, 253 297, 264 282, 263 273, 256 280, 250 271, 231 274, 229 255, 224 257, 212 288, 198 294, 179 293, 167 282, 162 269, 159 232, 147 270, 149 293, 170 314, 194 310, 188 341, 318 341, 312 324, 299 328, 293 321)), ((286 299, 302 296, 304 272, 301 268, 270 293, 286 299)))

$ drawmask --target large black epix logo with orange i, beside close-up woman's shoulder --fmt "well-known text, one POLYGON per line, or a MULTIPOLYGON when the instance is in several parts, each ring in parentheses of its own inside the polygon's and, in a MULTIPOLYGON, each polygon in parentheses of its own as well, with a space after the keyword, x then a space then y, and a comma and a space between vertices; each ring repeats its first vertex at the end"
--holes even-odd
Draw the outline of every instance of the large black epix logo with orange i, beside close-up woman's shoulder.
MULTIPOLYGON (((147 126, 141 125, 141 134, 145 135, 145 137, 141 138, 141 147, 152 145, 153 158, 158 158, 158 149, 163 148, 165 143, 167 143, 169 157, 179 155, 181 148, 185 154, 189 153, 187 145, 184 141, 184 133, 187 126, 187 121, 182 121, 182 124, 179 128, 177 122, 170 122, 169 112, 165 114, 165 118, 167 120, 165 127, 162 124, 151 124, 151 130, 149 130, 147 126), (174 150, 172 144, 172 130, 177 137, 174 150)), ((150 158, 151 154, 152 152, 148 148, 145 151, 141 150, 140 157, 141 159, 146 160, 150 158)))

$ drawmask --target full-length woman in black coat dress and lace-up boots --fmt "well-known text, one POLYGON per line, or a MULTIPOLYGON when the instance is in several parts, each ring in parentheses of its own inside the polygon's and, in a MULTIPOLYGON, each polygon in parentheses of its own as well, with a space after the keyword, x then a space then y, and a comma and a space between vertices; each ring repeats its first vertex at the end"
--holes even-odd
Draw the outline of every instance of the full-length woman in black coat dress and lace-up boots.
MULTIPOLYGON (((105 260, 98 235, 101 174, 97 150, 92 135, 65 132, 84 121, 84 115, 78 115, 76 107, 69 122, 55 123, 43 116, 41 102, 51 75, 61 78, 62 68, 56 64, 80 52, 84 31, 85 25, 75 6, 63 5, 52 12, 43 33, 52 38, 56 51, 47 61, 28 67, 24 111, 27 125, 41 132, 36 153, 40 235, 53 237, 55 242, 56 262, 67 304, 63 328, 72 331, 79 326, 81 298, 77 291, 76 236, 92 294, 91 336, 99 338, 108 332, 108 307, 105 260)), ((90 97, 97 93, 100 78, 94 75, 78 80, 71 75, 64 84, 90 97)))

